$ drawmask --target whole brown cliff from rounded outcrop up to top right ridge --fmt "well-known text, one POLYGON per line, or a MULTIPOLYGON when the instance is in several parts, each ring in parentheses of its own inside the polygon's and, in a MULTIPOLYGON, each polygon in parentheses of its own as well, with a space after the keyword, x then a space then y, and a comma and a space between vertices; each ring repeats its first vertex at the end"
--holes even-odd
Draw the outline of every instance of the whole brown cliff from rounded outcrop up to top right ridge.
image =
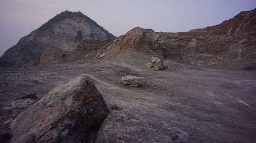
POLYGON ((131 55, 146 61, 157 56, 195 66, 256 69, 255 13, 256 9, 241 12, 219 25, 184 33, 135 27, 86 59, 105 61, 131 55))

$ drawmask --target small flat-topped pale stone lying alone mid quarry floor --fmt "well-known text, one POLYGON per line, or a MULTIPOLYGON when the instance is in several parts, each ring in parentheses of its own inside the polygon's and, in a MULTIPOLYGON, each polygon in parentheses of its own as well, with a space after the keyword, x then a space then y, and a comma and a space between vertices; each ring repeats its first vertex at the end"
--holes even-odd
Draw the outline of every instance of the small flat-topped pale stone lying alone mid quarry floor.
POLYGON ((144 85, 145 82, 146 80, 144 77, 132 76, 132 75, 124 76, 122 77, 122 80, 121 80, 121 83, 123 85, 127 85, 130 87, 140 87, 144 85))

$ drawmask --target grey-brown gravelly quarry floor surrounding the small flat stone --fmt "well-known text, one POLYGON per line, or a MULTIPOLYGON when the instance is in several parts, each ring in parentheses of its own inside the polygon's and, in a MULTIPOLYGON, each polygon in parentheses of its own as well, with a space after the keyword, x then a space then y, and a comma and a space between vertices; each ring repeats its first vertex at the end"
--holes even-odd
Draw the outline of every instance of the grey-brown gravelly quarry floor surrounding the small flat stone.
POLYGON ((15 98, 34 92, 42 98, 63 81, 87 75, 108 105, 178 127, 189 134, 189 142, 256 142, 256 71, 188 65, 154 71, 143 64, 82 61, 0 68, 1 130, 5 130, 3 123, 14 117, 4 108, 15 98), (120 84, 121 77, 127 75, 143 76, 147 84, 139 88, 120 84))

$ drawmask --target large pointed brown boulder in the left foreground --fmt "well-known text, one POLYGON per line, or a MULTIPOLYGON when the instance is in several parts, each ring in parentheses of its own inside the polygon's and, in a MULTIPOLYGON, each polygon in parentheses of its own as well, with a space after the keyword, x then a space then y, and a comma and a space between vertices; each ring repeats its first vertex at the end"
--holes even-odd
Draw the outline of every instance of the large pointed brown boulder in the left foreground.
POLYGON ((109 112, 94 83, 77 77, 18 115, 10 142, 92 142, 109 112))

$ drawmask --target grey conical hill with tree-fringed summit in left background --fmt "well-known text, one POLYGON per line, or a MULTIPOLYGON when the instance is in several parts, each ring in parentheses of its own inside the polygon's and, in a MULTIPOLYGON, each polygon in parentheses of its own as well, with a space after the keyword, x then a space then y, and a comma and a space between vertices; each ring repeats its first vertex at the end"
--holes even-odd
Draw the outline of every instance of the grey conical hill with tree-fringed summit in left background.
POLYGON ((108 40, 115 36, 81 12, 65 11, 21 38, 0 58, 1 67, 20 67, 36 59, 45 48, 74 51, 83 40, 108 40))

